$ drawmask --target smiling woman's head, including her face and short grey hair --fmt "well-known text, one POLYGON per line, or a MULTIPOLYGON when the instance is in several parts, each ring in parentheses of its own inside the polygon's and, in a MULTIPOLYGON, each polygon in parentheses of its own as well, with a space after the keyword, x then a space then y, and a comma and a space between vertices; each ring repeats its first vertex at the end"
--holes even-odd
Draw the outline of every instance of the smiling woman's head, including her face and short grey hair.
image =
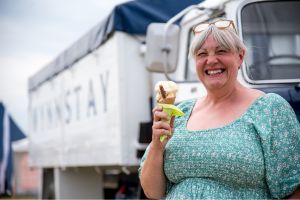
MULTIPOLYGON (((196 27, 197 28, 197 27, 196 27)), ((228 27, 229 28, 229 27, 228 27)), ((216 26, 209 27, 200 37, 195 37, 201 46, 193 45, 191 54, 196 60, 198 77, 207 90, 224 89, 235 81, 243 62, 245 46, 232 32, 220 32, 216 26), (208 35, 209 33, 209 35, 208 35), (232 35, 231 35, 232 34, 232 35), (235 45, 236 44, 236 45, 235 45)), ((232 31, 235 30, 233 27, 232 31)))

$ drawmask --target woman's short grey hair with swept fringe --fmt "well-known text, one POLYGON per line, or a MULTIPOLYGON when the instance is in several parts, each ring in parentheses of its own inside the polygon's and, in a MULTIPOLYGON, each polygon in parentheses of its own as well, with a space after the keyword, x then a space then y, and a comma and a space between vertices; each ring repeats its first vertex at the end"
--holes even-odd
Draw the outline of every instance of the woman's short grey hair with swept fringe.
POLYGON ((212 35, 217 43, 224 49, 227 49, 232 52, 239 52, 240 50, 246 50, 246 46, 239 36, 235 33, 234 29, 226 28, 219 29, 214 25, 210 25, 207 29, 203 30, 200 33, 195 34, 195 37, 192 41, 189 56, 196 58, 197 52, 203 45, 204 41, 209 35, 212 35))

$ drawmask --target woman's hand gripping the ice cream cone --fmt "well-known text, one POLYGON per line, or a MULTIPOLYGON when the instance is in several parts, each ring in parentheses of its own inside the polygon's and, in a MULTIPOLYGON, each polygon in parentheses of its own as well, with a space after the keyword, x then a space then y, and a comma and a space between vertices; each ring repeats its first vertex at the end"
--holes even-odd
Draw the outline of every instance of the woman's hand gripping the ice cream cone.
POLYGON ((152 144, 151 148, 164 150, 165 145, 171 138, 173 133, 174 117, 169 118, 168 114, 163 112, 161 106, 153 109, 153 125, 152 125, 152 144), (169 123, 170 122, 170 123, 169 123), (161 142, 160 137, 166 135, 167 138, 161 142))

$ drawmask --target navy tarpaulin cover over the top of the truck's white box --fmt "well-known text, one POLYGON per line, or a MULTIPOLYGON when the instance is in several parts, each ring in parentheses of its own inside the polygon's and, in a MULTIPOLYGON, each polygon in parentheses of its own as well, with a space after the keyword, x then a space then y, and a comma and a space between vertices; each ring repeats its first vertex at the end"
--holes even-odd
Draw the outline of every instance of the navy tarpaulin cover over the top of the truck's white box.
POLYGON ((29 80, 29 90, 72 66, 104 43, 114 31, 144 35, 152 22, 166 22, 202 0, 136 0, 116 6, 110 15, 29 80))

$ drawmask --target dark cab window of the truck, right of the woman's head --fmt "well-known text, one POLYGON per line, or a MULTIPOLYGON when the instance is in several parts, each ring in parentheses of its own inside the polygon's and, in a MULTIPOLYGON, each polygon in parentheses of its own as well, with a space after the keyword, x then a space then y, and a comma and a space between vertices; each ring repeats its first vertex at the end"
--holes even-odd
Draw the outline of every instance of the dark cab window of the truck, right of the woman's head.
POLYGON ((300 1, 247 4, 241 10, 245 60, 250 80, 299 82, 300 1))

